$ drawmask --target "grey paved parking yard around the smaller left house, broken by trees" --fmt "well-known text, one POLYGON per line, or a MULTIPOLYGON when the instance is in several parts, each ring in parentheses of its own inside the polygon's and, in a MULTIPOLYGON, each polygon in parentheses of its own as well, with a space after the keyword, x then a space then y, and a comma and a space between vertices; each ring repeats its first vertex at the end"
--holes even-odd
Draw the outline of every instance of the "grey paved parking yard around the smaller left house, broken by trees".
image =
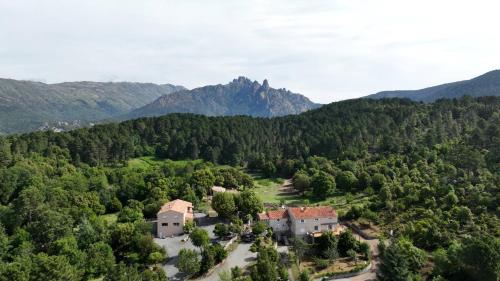
MULTIPOLYGON (((199 227, 205 229, 208 232, 208 235, 210 239, 215 239, 214 235, 214 227, 215 227, 215 220, 211 220, 210 218, 206 218, 204 214, 201 213, 196 213, 195 214, 196 219, 200 222, 199 227)), ((160 239, 160 238, 155 238, 154 241, 165 248, 167 250, 168 256, 170 259, 166 264, 163 265, 163 269, 165 270, 168 280, 171 281, 181 281, 185 280, 186 276, 179 272, 177 267, 175 266, 177 264, 178 260, 178 255, 179 251, 181 249, 197 249, 191 243, 190 240, 187 242, 183 242, 182 240, 186 238, 188 235, 181 235, 181 236, 175 236, 175 237, 169 237, 165 239, 160 239)))

